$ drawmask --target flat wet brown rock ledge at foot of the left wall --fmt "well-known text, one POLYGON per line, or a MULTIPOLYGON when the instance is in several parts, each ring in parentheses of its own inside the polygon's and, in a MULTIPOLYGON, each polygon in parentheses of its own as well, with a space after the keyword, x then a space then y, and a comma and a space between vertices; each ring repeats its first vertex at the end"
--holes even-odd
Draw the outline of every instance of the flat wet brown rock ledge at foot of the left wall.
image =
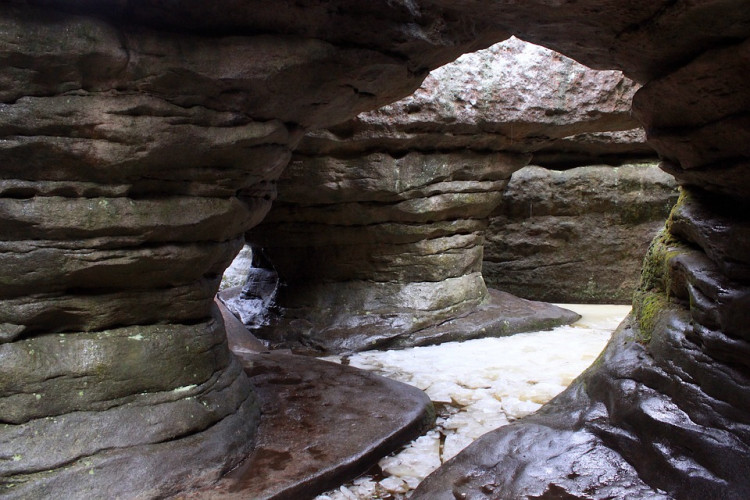
MULTIPOLYGON (((231 321, 231 320, 230 320, 231 321)), ((209 489, 180 498, 304 499, 351 479, 434 423, 419 389, 347 366, 284 352, 253 352, 228 329, 262 412, 257 445, 209 489)))

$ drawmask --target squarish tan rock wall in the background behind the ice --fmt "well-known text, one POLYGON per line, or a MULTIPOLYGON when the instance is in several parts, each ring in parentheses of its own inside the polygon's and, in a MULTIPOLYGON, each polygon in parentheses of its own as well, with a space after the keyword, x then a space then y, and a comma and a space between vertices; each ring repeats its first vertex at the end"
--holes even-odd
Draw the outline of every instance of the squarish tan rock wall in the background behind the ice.
POLYGON ((630 303, 643 256, 677 201, 656 164, 513 174, 485 235, 488 286, 562 303, 630 303))

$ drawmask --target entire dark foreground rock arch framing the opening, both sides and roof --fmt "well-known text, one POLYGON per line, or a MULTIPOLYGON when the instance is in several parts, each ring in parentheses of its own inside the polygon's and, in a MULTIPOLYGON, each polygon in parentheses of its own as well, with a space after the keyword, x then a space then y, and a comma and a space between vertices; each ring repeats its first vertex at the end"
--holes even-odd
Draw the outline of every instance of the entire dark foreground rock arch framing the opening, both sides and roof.
POLYGON ((164 496, 236 463, 254 402, 212 295, 289 150, 511 33, 645 84, 685 196, 607 354, 413 498, 750 496, 743 0, 11 0, 0 23, 9 498, 164 496))

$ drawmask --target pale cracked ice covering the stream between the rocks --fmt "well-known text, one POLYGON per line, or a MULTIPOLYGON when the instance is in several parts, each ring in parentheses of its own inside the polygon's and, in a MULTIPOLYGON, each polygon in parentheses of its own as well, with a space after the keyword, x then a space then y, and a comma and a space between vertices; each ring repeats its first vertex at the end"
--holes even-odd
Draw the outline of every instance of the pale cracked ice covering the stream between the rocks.
MULTIPOLYGON (((402 499, 440 464, 482 434, 533 413, 585 370, 630 306, 563 305, 583 318, 570 326, 511 337, 450 342, 348 358, 425 391, 436 427, 363 476, 316 500, 402 499)), ((341 361, 339 357, 327 358, 341 361)))

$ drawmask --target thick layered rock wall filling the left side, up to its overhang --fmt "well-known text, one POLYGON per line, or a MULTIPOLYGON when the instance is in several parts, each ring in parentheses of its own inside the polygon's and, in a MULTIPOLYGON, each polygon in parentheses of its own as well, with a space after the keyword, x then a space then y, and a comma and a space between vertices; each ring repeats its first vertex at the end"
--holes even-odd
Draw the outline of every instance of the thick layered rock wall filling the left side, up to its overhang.
POLYGON ((213 296, 244 232, 306 127, 408 94, 475 43, 167 26, 204 8, 182 7, 0 6, 9 498, 163 497, 242 460, 258 403, 213 296))

